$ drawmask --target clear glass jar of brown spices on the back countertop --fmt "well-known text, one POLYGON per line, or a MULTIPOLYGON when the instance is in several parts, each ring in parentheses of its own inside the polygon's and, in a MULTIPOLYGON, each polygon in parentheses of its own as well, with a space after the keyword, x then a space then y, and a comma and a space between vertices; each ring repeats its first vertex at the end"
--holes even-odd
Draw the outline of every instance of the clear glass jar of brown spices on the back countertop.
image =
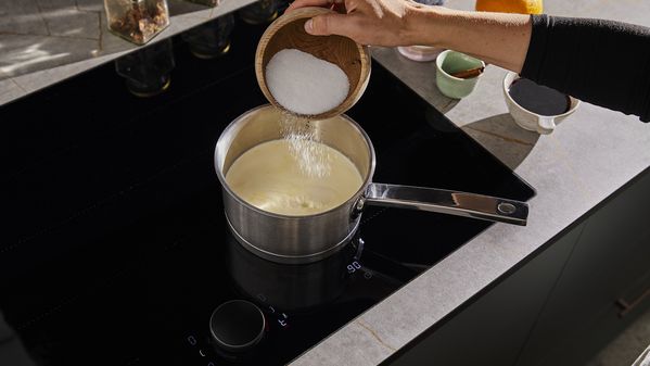
POLYGON ((109 29, 136 45, 144 45, 169 25, 166 0, 104 0, 109 29))

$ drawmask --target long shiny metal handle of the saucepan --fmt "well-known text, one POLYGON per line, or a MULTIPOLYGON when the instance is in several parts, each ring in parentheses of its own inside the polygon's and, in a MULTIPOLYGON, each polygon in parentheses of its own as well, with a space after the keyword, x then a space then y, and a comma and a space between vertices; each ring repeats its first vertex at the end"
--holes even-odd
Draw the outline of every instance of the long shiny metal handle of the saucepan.
POLYGON ((496 197, 435 188, 370 184, 357 204, 412 209, 526 225, 528 204, 496 197))

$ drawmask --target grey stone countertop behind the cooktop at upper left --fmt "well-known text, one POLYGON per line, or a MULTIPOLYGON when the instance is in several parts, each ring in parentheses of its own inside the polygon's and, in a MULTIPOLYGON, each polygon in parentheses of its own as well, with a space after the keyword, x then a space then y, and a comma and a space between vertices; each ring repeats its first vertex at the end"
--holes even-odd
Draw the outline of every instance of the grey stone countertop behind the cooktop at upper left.
MULTIPOLYGON (((169 26, 148 45, 256 0, 208 8, 168 0, 169 26)), ((0 1, 0 105, 137 50, 109 31, 104 0, 0 1)))

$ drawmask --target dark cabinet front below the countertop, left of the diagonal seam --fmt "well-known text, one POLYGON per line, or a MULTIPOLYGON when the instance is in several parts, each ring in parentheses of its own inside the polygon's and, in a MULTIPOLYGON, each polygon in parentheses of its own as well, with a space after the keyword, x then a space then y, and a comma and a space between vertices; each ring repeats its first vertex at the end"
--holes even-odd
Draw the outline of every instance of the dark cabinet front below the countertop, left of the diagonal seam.
POLYGON ((583 225, 570 229, 392 365, 514 365, 583 225))

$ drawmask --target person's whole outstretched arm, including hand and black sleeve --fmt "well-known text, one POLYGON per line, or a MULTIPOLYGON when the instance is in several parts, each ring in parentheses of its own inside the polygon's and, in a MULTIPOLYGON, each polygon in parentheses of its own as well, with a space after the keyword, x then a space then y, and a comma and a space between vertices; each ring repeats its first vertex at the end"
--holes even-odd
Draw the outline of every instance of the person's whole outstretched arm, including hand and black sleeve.
POLYGON ((404 0, 295 0, 345 3, 346 14, 305 23, 316 36, 361 45, 437 46, 468 53, 594 104, 650 121, 650 28, 602 20, 463 12, 404 0))

